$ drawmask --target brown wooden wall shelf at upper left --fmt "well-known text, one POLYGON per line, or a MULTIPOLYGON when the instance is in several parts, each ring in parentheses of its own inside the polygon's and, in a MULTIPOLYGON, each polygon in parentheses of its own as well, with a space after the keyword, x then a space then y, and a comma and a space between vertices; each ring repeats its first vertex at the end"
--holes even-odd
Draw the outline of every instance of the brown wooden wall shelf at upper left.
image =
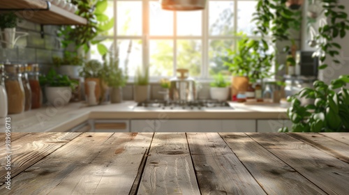
POLYGON ((17 10, 25 20, 44 25, 86 25, 83 17, 43 0, 1 0, 0 10, 17 10))

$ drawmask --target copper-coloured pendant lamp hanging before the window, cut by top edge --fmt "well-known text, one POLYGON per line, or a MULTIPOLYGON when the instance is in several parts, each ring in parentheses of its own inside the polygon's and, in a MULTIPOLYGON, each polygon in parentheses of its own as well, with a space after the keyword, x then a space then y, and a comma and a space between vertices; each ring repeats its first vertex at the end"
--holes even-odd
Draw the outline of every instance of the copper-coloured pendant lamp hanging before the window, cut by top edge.
POLYGON ((204 10, 207 0, 160 0, 163 10, 204 10))

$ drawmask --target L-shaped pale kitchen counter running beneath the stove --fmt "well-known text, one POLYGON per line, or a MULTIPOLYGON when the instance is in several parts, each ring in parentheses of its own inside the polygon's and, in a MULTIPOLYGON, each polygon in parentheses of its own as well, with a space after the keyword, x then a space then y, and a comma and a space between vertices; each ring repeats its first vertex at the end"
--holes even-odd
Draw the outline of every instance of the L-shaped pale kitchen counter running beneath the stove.
MULTIPOLYGON (((230 110, 134 110, 135 102, 87 107, 83 102, 65 107, 43 107, 10 115, 13 132, 64 132, 89 119, 287 119, 279 104, 246 105, 230 102, 230 110)), ((5 132, 0 120, 0 132, 5 132)))

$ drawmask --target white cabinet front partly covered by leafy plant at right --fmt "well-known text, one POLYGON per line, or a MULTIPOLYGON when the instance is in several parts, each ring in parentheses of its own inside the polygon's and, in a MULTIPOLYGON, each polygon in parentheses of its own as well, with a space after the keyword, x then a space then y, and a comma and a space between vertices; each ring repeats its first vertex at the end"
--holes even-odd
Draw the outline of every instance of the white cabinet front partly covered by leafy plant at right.
POLYGON ((292 122, 290 120, 257 120, 257 132, 278 132, 280 128, 292 127, 292 122))

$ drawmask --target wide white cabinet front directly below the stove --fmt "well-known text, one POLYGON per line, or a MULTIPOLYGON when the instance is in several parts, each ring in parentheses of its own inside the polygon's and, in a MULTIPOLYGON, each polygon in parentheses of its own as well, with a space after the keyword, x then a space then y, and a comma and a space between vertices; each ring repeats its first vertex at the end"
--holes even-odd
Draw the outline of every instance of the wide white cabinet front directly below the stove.
POLYGON ((155 132, 221 132, 221 120, 155 120, 155 132))

